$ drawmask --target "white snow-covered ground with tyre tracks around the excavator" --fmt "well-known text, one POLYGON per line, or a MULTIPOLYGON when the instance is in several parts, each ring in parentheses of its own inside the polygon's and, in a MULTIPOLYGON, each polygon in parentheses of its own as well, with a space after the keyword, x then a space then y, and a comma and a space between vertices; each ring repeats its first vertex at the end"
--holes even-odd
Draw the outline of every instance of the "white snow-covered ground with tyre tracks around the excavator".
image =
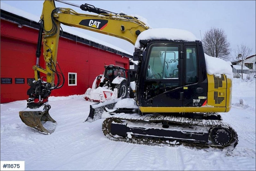
POLYGON ((238 134, 233 151, 111 141, 102 133, 103 119, 83 122, 92 102, 74 95, 49 97, 58 123, 51 135, 20 120, 26 100, 1 104, 0 158, 25 161, 25 170, 255 170, 255 91, 255 79, 233 79, 232 109, 221 113, 238 134))

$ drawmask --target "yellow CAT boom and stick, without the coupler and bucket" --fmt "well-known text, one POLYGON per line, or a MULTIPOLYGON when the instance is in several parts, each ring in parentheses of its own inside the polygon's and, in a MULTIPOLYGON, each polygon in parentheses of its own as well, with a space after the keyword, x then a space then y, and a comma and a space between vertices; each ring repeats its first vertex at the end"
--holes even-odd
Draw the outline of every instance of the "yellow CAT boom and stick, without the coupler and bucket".
MULTIPOLYGON (((80 8, 92 11, 88 5, 81 5, 80 8)), ((98 10, 98 12, 104 11, 98 10)), ((54 1, 44 1, 41 20, 44 29, 42 34, 46 69, 34 67, 37 71, 47 75, 47 82, 50 82, 52 86, 54 84, 54 71, 52 71, 51 65, 56 66, 60 24, 118 37, 133 45, 140 32, 148 29, 145 23, 132 16, 107 12, 98 15, 82 14, 70 8, 56 8, 54 1)))

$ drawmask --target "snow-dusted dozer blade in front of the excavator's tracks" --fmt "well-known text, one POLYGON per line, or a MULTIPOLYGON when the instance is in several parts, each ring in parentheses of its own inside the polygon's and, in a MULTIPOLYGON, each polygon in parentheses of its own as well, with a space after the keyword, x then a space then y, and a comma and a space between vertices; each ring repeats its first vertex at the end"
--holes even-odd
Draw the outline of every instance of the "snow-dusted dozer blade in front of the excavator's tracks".
POLYGON ((108 109, 113 109, 114 106, 116 105, 116 103, 121 100, 122 98, 116 98, 113 100, 108 100, 102 103, 96 103, 93 105, 90 105, 90 113, 89 116, 86 120, 84 120, 84 122, 93 122, 95 120, 101 119, 102 118, 102 114, 104 112, 108 113, 105 108, 108 109))

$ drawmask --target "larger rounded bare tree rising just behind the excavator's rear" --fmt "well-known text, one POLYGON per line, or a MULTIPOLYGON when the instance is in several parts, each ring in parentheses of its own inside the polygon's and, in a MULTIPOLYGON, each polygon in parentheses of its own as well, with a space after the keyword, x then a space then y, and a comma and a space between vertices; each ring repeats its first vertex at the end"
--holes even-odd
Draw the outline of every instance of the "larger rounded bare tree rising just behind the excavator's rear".
POLYGON ((226 58, 229 53, 230 43, 223 29, 211 28, 204 33, 203 47, 204 53, 216 58, 226 58))

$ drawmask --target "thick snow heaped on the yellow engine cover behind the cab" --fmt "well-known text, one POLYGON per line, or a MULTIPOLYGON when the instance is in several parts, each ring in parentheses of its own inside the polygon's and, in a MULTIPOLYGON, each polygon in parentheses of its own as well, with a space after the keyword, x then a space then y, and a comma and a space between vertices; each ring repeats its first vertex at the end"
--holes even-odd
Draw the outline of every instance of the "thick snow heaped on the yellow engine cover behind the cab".
POLYGON ((204 54, 206 63, 206 72, 210 75, 220 76, 220 74, 225 74, 227 78, 233 79, 233 72, 230 61, 225 61, 220 58, 211 57, 204 54))

